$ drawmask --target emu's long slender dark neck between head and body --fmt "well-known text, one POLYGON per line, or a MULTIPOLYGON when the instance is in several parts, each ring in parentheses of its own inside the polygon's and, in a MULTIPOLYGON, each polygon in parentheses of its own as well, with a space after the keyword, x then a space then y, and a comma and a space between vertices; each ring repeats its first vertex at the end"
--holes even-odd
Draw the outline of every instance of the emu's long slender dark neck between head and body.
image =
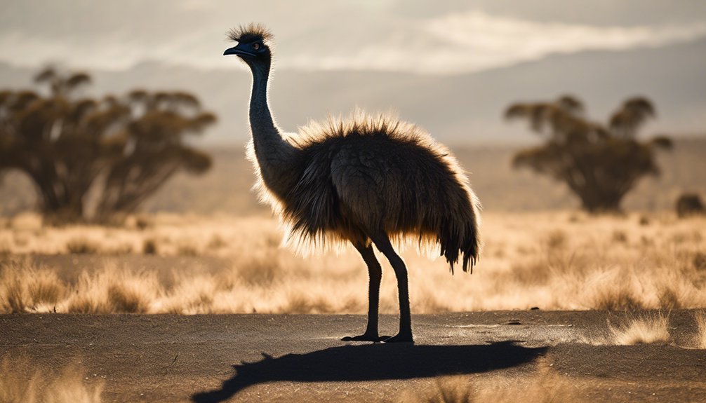
POLYGON ((253 91, 250 97, 250 128, 253 148, 265 186, 284 198, 294 186, 297 149, 285 141, 270 113, 268 79, 270 66, 251 66, 253 91))

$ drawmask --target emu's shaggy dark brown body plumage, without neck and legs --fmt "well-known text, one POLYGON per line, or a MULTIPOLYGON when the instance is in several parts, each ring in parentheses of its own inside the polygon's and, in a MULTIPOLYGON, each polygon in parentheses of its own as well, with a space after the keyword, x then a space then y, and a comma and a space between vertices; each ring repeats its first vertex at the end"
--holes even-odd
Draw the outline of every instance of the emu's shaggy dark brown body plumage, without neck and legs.
POLYGON ((384 234, 420 249, 438 245, 452 273, 459 259, 463 271, 472 270, 481 247, 479 200, 450 151, 424 130, 357 110, 311 122, 289 143, 299 150, 291 166, 299 179, 281 197, 262 182, 249 152, 256 190, 282 218, 288 244, 309 252, 384 234))

